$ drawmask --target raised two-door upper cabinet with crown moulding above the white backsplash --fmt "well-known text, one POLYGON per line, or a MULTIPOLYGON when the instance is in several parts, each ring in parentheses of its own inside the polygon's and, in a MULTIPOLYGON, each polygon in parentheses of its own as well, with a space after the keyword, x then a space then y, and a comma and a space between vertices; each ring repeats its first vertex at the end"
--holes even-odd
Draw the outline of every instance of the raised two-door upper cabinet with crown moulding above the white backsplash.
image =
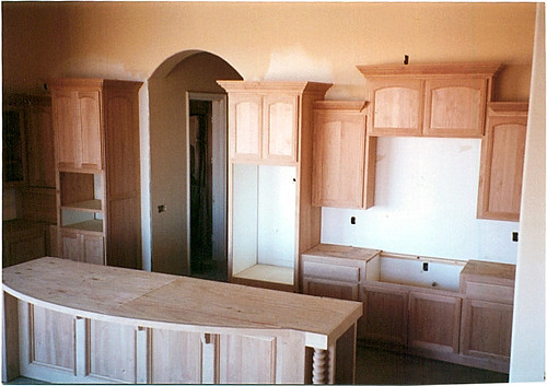
POLYGON ((481 137, 499 63, 359 66, 371 136, 481 137))

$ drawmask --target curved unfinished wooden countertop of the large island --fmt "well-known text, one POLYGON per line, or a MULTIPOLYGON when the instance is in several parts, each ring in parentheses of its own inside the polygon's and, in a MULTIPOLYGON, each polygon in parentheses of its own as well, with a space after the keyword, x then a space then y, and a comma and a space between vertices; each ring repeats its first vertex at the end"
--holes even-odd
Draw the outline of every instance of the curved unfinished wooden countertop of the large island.
MULTIPOLYGON (((75 262, 54 257, 3 270, 3 290, 25 302, 82 317, 127 318, 142 326, 287 329, 326 349, 362 314, 358 302, 75 262)), ((118 320, 119 321, 119 320, 118 320)))

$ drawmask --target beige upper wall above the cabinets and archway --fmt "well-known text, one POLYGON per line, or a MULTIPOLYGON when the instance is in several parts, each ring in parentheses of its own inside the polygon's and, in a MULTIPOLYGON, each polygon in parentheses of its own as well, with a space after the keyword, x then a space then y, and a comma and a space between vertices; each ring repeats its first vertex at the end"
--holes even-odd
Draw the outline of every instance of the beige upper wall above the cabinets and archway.
POLYGON ((216 54, 244 79, 335 83, 363 95, 356 65, 500 61, 501 100, 526 100, 533 3, 3 2, 4 86, 53 77, 146 80, 188 49, 216 54))

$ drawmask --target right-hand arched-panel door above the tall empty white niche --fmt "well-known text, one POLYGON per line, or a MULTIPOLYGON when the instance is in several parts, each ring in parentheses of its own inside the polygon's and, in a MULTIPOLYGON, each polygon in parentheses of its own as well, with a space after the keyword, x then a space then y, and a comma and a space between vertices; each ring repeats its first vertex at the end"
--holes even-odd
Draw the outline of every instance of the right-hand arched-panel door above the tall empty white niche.
POLYGON ((298 97, 264 96, 264 157, 280 162, 296 162, 298 97))

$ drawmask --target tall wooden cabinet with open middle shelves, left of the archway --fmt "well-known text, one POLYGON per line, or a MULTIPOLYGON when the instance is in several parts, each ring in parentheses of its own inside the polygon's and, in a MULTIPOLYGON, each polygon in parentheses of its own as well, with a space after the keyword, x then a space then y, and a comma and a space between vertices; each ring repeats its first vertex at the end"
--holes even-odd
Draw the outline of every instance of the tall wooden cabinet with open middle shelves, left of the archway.
POLYGON ((60 257, 127 268, 141 266, 141 85, 102 79, 48 83, 60 257))

